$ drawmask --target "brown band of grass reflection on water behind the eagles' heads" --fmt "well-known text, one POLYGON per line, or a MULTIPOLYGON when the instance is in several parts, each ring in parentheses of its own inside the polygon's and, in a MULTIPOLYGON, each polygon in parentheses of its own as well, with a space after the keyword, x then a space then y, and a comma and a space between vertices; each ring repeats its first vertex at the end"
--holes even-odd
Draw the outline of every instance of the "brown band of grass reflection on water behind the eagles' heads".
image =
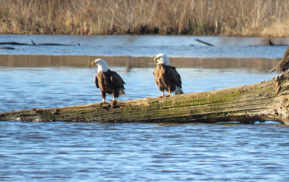
MULTIPOLYGON (((0 66, 7 67, 91 67, 97 58, 105 59, 109 66, 155 67, 154 57, 105 57, 105 56, 53 56, 53 55, 0 55, 0 66)), ((266 58, 169 58, 170 65, 177 68, 192 67, 204 69, 254 69, 260 72, 272 70, 281 59, 266 58)))

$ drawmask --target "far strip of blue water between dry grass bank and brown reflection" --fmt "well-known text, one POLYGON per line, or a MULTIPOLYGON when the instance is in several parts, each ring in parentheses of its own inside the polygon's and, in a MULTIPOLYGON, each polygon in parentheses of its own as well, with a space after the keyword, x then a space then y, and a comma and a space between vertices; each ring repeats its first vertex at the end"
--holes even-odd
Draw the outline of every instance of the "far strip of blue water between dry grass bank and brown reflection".
POLYGON ((267 45, 268 39, 240 37, 199 37, 159 35, 0 35, 0 42, 32 44, 57 43, 75 46, 0 45, 18 48, 1 50, 0 54, 33 55, 92 55, 92 56, 156 56, 160 52, 169 57, 259 57, 281 58, 288 46, 267 45), (205 46, 195 39, 217 46, 205 46), (77 44, 81 46, 77 46, 77 44), (194 46, 192 46, 194 45, 194 46), (239 46, 235 46, 239 45, 239 46))

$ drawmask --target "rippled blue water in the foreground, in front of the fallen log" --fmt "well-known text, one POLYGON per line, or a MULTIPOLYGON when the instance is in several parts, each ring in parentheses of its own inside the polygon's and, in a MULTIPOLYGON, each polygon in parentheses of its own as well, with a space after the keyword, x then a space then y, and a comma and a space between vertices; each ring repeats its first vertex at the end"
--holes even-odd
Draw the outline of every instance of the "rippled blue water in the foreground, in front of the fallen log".
POLYGON ((285 125, 0 122, 1 181, 288 181, 285 125))

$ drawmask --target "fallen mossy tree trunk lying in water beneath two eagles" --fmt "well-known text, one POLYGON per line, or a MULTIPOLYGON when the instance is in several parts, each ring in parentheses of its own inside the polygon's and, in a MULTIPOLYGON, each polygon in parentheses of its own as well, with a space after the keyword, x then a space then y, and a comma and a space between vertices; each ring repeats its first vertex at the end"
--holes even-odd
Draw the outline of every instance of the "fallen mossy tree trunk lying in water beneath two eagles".
POLYGON ((147 97, 112 104, 0 113, 0 121, 101 121, 101 122, 227 122, 277 121, 289 125, 289 71, 286 50, 277 78, 247 86, 188 93, 167 98, 147 97), (286 61, 284 61, 286 59, 286 61), (286 69, 284 67, 286 67, 286 69))

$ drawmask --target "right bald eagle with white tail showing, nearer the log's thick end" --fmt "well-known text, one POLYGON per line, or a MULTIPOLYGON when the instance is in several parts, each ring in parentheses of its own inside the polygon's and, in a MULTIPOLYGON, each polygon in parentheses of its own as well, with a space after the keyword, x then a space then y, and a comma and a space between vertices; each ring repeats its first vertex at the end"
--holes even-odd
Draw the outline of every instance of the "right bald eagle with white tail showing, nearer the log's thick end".
POLYGON ((169 97, 171 92, 176 95, 184 94, 181 89, 181 76, 175 67, 169 65, 168 57, 164 54, 158 54, 153 61, 158 61, 157 67, 153 70, 155 84, 162 92, 162 95, 158 97, 169 97), (168 95, 164 95, 164 90, 168 92, 168 95))

